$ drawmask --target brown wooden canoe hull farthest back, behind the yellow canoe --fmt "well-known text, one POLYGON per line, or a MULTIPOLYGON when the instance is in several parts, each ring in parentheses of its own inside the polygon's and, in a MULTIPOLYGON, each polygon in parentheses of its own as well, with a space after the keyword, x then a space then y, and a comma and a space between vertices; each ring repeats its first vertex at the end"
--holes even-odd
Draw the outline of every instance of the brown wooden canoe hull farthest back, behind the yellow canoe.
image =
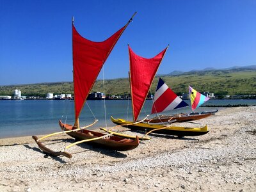
POLYGON ((201 112, 201 113, 180 113, 180 114, 175 114, 175 115, 162 115, 156 117, 156 118, 151 118, 145 120, 145 122, 150 122, 150 123, 161 123, 163 124, 169 123, 171 124, 172 122, 188 122, 188 121, 193 121, 193 120, 200 120, 202 118, 207 118, 208 116, 214 115, 216 111, 209 111, 209 112, 201 112))

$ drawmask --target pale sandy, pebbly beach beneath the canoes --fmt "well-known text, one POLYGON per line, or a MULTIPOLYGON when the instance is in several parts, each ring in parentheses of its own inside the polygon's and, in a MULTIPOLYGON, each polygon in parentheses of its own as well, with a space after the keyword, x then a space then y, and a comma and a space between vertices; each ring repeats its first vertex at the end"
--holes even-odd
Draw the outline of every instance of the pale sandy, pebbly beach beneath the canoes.
MULTIPOLYGON (((72 159, 45 156, 31 136, 1 139, 0 191, 256 191, 255 111, 227 108, 173 124, 211 131, 184 139, 151 134, 127 152, 83 143, 68 148, 72 159)), ((72 142, 63 134, 44 141, 54 150, 72 142)))

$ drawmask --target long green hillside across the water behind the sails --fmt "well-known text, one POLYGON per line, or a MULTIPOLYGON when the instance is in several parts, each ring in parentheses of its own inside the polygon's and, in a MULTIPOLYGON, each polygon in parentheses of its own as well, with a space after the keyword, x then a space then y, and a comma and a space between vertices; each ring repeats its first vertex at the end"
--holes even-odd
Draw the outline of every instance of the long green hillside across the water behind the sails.
MULTIPOLYGON (((162 76, 164 82, 180 95, 188 92, 188 85, 198 92, 212 92, 214 95, 256 94, 256 69, 202 70, 185 72, 174 76, 162 76)), ((154 79, 151 93, 156 90, 158 77, 154 79)), ((38 83, 0 86, 0 95, 12 95, 18 89, 22 95, 45 97, 46 93, 71 93, 72 82, 38 83)), ((97 80, 92 92, 103 92, 102 81, 97 80)), ((128 78, 105 80, 106 95, 125 95, 130 92, 128 78)))

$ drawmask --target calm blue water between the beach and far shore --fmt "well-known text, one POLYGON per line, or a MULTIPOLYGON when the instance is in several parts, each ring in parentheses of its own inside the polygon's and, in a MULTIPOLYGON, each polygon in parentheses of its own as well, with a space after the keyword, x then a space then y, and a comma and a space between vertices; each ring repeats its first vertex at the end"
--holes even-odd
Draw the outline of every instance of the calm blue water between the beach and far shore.
MULTIPOLYGON (((186 100, 189 104, 189 100, 186 100)), ((104 101, 88 100, 93 114, 99 122, 95 127, 106 127, 104 101)), ((206 105, 250 104, 256 100, 209 100, 206 105)), ((152 100, 146 100, 141 118, 150 113, 152 100)), ((216 108, 198 108, 196 111, 209 111, 216 108)), ((218 108, 221 109, 221 108, 218 108)), ((172 113, 190 112, 191 108, 175 110, 172 113)), ((114 124, 110 116, 132 120, 131 100, 106 100, 107 126, 114 124), (128 111, 128 113, 127 113, 128 111)), ((74 100, 0 100, 0 138, 31 136, 60 131, 58 120, 74 124, 74 100)), ((81 112, 80 124, 92 124, 94 117, 85 104, 81 112)))

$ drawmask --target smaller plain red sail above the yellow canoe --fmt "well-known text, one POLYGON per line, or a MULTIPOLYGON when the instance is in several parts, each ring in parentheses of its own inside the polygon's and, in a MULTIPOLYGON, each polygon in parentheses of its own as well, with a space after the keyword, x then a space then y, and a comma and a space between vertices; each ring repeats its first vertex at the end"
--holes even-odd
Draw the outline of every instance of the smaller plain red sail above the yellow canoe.
POLYGON ((156 76, 157 69, 161 64, 167 49, 168 47, 157 54, 154 58, 147 59, 135 54, 129 46, 131 71, 130 81, 134 122, 136 122, 140 115, 140 111, 148 95, 149 88, 156 76))

